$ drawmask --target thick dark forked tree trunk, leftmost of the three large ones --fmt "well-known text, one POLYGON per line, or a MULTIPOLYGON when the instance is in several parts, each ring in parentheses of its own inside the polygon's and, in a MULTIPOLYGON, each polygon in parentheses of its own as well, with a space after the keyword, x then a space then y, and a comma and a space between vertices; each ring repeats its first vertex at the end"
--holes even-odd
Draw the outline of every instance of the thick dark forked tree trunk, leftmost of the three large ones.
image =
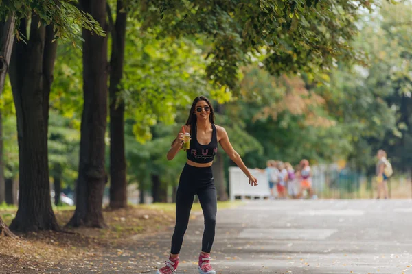
POLYGON ((38 27, 39 23, 33 15, 27 36, 26 21, 21 21, 21 32, 30 40, 15 45, 10 66, 19 142, 19 210, 10 229, 23 232, 59 230, 50 200, 47 150, 49 86, 57 45, 52 43, 52 25, 38 27))

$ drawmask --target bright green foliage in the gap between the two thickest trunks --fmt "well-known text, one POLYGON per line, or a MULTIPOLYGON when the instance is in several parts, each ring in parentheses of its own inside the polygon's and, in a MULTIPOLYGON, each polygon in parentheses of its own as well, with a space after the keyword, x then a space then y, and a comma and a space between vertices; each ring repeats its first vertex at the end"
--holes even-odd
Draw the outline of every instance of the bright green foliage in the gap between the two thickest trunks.
POLYGON ((50 176, 60 177, 63 187, 73 186, 78 177, 83 106, 81 53, 70 42, 60 43, 49 99, 50 176))

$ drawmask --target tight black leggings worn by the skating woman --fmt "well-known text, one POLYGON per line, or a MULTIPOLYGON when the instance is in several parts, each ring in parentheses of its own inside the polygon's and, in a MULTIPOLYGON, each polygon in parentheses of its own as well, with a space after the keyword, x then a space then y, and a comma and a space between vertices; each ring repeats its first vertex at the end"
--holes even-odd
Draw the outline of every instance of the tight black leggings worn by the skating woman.
POLYGON ((172 237, 170 253, 179 254, 183 243, 183 236, 189 223, 194 195, 197 194, 203 216, 205 217, 205 231, 202 238, 202 251, 210 253, 213 245, 216 227, 216 187, 210 167, 196 167, 188 164, 183 168, 179 187, 176 193, 176 225, 172 237))

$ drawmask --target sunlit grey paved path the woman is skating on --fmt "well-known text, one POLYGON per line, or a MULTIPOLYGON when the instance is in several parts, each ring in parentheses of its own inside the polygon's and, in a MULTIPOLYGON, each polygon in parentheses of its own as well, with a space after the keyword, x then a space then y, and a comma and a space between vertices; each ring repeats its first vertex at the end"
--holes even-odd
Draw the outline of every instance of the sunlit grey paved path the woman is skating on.
MULTIPOLYGON (((177 273, 198 273, 202 233, 199 216, 190 221, 177 273)), ((134 271, 155 273, 171 234, 135 238, 134 271)), ((222 274, 412 274, 412 201, 249 201, 218 212, 212 256, 222 274)))

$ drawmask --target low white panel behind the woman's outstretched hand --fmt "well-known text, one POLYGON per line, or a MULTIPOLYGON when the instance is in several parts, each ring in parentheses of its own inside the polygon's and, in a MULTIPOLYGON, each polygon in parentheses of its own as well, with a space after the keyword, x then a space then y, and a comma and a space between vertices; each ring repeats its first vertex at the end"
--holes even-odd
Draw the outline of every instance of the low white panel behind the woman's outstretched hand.
POLYGON ((264 199, 271 195, 268 183, 268 175, 255 169, 249 169, 252 175, 258 179, 258 186, 251 186, 249 179, 237 166, 229 167, 229 196, 231 201, 236 197, 259 197, 264 199))

